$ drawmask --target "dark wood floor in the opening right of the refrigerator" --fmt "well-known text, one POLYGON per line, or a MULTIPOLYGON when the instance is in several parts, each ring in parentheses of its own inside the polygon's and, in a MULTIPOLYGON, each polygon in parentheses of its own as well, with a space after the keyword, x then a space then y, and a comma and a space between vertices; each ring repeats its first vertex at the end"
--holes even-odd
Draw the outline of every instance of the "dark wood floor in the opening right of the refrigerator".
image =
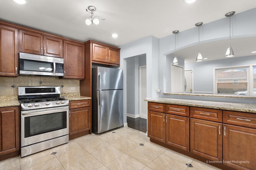
POLYGON ((138 131, 145 132, 147 131, 147 119, 141 117, 133 118, 127 116, 128 127, 136 129, 138 131))

